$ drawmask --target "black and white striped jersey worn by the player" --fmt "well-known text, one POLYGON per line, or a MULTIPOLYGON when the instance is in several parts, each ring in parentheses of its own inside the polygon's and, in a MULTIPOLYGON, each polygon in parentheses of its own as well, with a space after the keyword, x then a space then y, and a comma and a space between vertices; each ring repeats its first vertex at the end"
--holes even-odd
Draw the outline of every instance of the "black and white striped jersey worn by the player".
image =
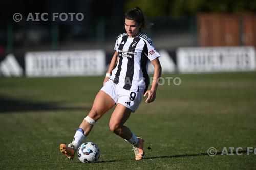
POLYGON ((148 60, 160 56, 152 40, 143 32, 135 38, 123 33, 117 37, 114 50, 118 52, 119 60, 110 79, 126 90, 139 91, 143 88, 145 93, 150 83, 148 60))

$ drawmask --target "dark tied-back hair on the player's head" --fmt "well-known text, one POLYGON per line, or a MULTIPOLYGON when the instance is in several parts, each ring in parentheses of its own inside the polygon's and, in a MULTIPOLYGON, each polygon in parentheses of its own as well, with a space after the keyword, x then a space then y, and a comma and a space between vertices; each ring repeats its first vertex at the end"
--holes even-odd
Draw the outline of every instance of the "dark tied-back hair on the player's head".
POLYGON ((144 14, 139 7, 135 7, 133 10, 127 12, 125 19, 134 20, 136 23, 141 24, 140 31, 146 28, 144 14))

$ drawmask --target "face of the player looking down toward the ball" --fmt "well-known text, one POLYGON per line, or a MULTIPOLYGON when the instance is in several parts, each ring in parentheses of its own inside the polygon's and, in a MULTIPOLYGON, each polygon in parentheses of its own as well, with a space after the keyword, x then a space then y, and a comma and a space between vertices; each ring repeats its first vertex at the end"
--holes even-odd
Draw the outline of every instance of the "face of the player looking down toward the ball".
POLYGON ((138 25, 134 20, 125 19, 124 27, 128 37, 136 37, 140 33, 141 24, 138 25))

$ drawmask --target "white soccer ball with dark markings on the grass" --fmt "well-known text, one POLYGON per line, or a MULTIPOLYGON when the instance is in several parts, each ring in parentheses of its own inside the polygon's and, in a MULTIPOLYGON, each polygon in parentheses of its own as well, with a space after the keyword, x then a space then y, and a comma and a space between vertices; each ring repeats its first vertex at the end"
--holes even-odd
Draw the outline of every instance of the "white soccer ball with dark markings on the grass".
POLYGON ((78 148, 77 155, 82 163, 96 162, 100 156, 99 147, 92 142, 83 143, 78 148))

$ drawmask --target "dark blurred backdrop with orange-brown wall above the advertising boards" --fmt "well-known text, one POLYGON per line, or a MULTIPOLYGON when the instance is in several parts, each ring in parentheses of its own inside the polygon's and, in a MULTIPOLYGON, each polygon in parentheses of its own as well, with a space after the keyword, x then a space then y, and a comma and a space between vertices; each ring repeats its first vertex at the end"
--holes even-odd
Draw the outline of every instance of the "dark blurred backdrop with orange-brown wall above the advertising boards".
POLYGON ((24 70, 27 52, 101 49, 108 64, 116 37, 125 32, 124 14, 136 6, 146 17, 144 32, 153 39, 157 50, 168 52, 175 65, 179 47, 256 46, 256 1, 253 0, 3 0, 0 61, 13 54, 24 70), (13 20, 17 12, 23 16, 20 22, 13 20), (52 13, 62 12, 83 13, 84 19, 52 21, 52 13), (34 19, 35 13, 48 13, 49 20, 44 21, 39 15, 37 21, 27 21, 29 13, 34 19))

